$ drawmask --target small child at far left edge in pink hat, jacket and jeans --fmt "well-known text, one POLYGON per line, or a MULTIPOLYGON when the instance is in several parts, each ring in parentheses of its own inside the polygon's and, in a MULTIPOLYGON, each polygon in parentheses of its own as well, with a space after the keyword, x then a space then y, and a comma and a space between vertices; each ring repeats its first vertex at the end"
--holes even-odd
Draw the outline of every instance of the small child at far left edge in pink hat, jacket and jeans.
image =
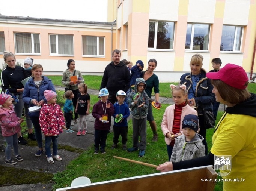
POLYGON ((5 149, 5 163, 9 165, 14 165, 17 162, 12 160, 11 158, 12 148, 14 149, 15 159, 17 161, 23 161, 21 155, 18 154, 17 135, 17 133, 21 130, 20 124, 23 122, 23 119, 17 117, 12 105, 12 99, 10 95, 0 94, 0 105, 2 106, 0 108, 0 123, 2 135, 5 138, 7 144, 5 149))

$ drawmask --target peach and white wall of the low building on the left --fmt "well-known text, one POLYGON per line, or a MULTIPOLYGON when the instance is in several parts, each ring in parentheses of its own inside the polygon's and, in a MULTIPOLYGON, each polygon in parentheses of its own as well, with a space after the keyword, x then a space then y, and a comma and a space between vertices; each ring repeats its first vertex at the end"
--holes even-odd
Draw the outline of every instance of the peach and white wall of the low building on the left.
MULTIPOLYGON (((35 64, 42 64, 44 74, 62 74, 67 68, 68 59, 74 59, 76 69, 83 74, 102 74, 111 62, 112 49, 115 49, 116 29, 111 23, 72 24, 72 21, 37 22, 36 19, 1 19, 0 31, 5 34, 5 49, 13 52, 17 61, 23 64, 24 58, 30 56, 35 64), (111 29, 113 27, 113 30, 111 29), (38 33, 40 35, 40 54, 15 53, 14 33, 38 33), (73 35, 74 55, 50 55, 49 34, 73 35), (105 56, 83 56, 82 36, 105 37, 105 56)), ((0 55, 3 53, 0 53, 0 55)), ((3 58, 3 57, 2 57, 3 58)), ((2 63, 4 61, 2 60, 2 63)))

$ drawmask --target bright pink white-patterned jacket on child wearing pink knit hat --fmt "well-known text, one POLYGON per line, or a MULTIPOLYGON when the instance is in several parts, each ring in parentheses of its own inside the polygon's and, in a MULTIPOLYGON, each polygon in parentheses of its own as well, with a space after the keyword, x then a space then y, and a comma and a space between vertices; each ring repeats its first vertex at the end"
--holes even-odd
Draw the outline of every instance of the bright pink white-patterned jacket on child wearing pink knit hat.
POLYGON ((58 104, 44 104, 40 110, 39 124, 44 135, 59 135, 63 132, 62 125, 65 125, 63 113, 58 104))

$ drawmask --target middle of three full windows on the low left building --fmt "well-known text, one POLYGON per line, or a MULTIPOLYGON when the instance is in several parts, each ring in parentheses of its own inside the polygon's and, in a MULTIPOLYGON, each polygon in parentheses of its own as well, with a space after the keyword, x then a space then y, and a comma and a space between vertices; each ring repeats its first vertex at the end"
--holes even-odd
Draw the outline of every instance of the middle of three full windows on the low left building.
POLYGON ((50 34, 51 55, 74 55, 73 35, 50 34))

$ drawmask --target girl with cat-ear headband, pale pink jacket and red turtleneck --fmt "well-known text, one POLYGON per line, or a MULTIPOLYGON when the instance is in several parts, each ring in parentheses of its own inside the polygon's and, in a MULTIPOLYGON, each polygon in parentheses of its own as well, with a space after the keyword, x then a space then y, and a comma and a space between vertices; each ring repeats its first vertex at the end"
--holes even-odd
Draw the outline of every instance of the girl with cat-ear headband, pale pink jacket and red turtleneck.
POLYGON ((169 161, 172 155, 175 138, 182 135, 182 121, 184 116, 188 114, 197 115, 197 111, 188 105, 186 86, 182 85, 176 87, 171 84, 170 87, 172 89, 174 104, 166 108, 161 123, 169 161))

